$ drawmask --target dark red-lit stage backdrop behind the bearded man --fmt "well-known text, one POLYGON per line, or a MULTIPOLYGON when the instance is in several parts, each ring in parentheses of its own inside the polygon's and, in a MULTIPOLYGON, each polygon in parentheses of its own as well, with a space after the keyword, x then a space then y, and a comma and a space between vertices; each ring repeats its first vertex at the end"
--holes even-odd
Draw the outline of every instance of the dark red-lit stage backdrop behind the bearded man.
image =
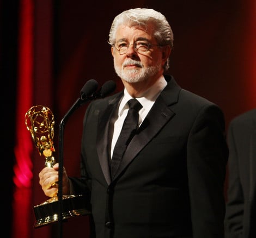
MULTIPOLYGON (((220 105, 227 127, 234 116, 256 107, 255 0, 131 0, 92 1, 90 4, 82 0, 24 0, 20 3, 19 16, 26 17, 31 14, 27 20, 28 25, 23 27, 28 27, 28 34, 33 37, 31 41, 27 39, 30 50, 23 54, 29 54, 32 59, 28 62, 32 74, 26 76, 26 82, 31 82, 26 85, 29 87, 28 93, 22 94, 22 85, 17 83, 17 91, 28 100, 24 101, 26 107, 17 109, 19 114, 16 116, 19 118, 16 120, 23 120, 26 110, 33 105, 44 104, 51 108, 56 121, 56 151, 60 120, 80 97, 84 83, 95 79, 102 85, 106 80, 115 80, 117 91, 123 89, 120 79, 114 73, 111 48, 107 40, 115 15, 130 8, 154 8, 167 17, 174 32, 169 74, 172 74, 184 89, 220 105), (29 12, 22 15, 23 8, 29 12)), ((18 53, 22 54, 21 49, 18 53)), ((21 56, 20 65, 23 62, 21 56)), ((20 68, 18 81, 23 76, 20 68)), ((20 101, 17 107, 20 107, 22 102, 20 101)), ((64 166, 70 176, 79 176, 80 173, 80 140, 86 108, 87 105, 83 105, 77 109, 65 126, 64 166)), ((25 127, 22 123, 20 122, 20 127, 25 127)), ((17 137, 22 133, 25 135, 28 131, 19 134, 18 128, 17 137)), ((28 137, 24 137, 27 143, 31 139, 28 137)), ((22 188, 27 191, 23 193, 27 197, 22 199, 29 201, 29 204, 27 212, 25 211, 25 217, 28 219, 25 221, 22 220, 17 206, 13 206, 13 227, 16 229, 13 238, 20 238, 19 232, 27 234, 26 238, 58 237, 56 224, 33 228, 32 207, 47 199, 40 188, 38 178, 39 171, 44 167, 44 158, 39 156, 32 143, 24 148, 23 141, 17 138, 16 141, 16 148, 19 148, 20 152, 16 154, 17 161, 18 155, 26 154, 25 150, 28 149, 30 157, 27 156, 26 161, 31 177, 28 178, 26 189, 22 185, 14 185, 14 191, 22 188)), ((63 231, 64 238, 88 237, 88 217, 77 217, 65 222, 63 231)))

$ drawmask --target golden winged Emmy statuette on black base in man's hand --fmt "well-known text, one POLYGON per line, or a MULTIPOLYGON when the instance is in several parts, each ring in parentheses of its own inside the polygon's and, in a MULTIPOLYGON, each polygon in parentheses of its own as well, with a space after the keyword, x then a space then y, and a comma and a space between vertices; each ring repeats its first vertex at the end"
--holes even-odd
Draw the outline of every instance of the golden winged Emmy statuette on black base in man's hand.
MULTIPOLYGON (((32 139, 38 148, 39 154, 45 156, 45 166, 53 167, 56 160, 52 155, 53 147, 54 116, 52 111, 42 105, 33 106, 26 112, 25 123, 30 131, 32 139)), ((52 184, 58 186, 58 183, 52 184)), ((88 215, 90 212, 84 207, 86 203, 82 195, 63 195, 62 218, 66 220, 71 217, 88 215)), ((34 227, 42 227, 58 221, 58 196, 54 196, 44 203, 34 206, 36 222, 34 227)), ((60 213, 61 215, 61 213, 60 213)))

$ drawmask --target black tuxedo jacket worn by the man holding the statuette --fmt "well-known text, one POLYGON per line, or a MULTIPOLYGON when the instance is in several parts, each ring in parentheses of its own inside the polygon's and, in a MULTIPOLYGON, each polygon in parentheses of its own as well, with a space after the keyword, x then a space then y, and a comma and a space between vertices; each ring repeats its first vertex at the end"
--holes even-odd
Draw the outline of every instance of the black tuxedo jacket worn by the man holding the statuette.
POLYGON ((82 180, 91 191, 96 237, 224 236, 223 184, 227 162, 220 108, 176 84, 161 92, 126 149, 113 181, 109 122, 123 96, 89 104, 83 121, 82 180))

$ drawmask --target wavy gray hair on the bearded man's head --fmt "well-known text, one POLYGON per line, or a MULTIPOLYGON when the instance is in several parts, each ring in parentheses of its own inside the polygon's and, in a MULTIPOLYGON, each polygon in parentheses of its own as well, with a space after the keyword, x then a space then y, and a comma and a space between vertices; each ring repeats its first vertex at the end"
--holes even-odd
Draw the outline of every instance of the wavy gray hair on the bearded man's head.
MULTIPOLYGON (((110 45, 115 44, 115 34, 117 28, 121 24, 126 24, 127 26, 141 26, 147 30, 148 23, 153 23, 155 26, 154 37, 159 45, 169 45, 170 48, 173 47, 173 32, 170 27, 166 17, 161 14, 161 12, 155 11, 154 9, 148 8, 135 8, 129 9, 121 12, 117 15, 111 25, 109 30, 108 42, 110 45)), ((167 59, 166 65, 164 65, 164 70, 169 68, 169 59, 167 59)))

